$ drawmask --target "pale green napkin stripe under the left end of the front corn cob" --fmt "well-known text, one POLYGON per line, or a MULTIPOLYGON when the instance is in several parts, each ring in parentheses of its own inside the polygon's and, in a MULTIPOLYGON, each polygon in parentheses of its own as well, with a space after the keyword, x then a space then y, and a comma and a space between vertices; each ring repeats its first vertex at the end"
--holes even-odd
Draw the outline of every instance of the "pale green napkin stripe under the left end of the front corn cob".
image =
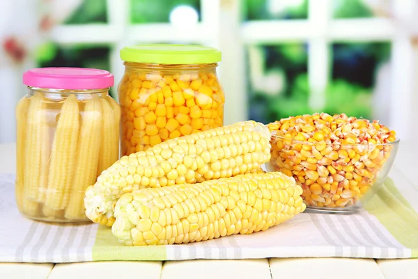
POLYGON ((123 246, 111 234, 111 228, 100 225, 93 246, 93 261, 162 261, 167 259, 165 246, 123 246))

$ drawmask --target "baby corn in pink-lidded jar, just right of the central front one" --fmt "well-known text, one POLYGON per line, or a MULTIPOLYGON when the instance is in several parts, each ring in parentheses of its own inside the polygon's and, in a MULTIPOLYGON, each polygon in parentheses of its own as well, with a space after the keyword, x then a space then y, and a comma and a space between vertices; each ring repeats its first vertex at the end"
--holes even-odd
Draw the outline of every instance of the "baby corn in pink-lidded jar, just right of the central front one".
MULTIPOLYGON (((107 103, 106 100, 104 102, 107 103)), ((113 116, 111 116, 113 118, 113 116)), ((84 190, 97 179, 100 150, 100 128, 102 126, 102 106, 99 96, 86 103, 82 116, 82 127, 77 146, 74 182, 70 202, 65 209, 68 220, 86 218, 84 214, 84 190)), ((107 146, 111 149, 112 146, 107 146)))

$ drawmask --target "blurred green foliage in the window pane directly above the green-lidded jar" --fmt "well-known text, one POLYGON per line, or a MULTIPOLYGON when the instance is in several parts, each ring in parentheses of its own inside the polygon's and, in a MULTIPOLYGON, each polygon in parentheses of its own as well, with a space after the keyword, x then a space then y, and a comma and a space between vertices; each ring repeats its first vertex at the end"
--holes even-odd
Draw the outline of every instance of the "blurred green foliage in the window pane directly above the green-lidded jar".
POLYGON ((169 22, 171 10, 180 5, 192 6, 200 14, 200 0, 130 0, 130 22, 169 22))

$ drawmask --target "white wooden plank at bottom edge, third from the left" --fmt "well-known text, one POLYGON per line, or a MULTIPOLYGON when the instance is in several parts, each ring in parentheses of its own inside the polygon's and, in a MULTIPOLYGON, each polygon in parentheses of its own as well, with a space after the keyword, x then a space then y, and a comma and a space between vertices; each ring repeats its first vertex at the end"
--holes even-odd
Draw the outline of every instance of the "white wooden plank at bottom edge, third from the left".
POLYGON ((270 279, 267 259, 196 259, 164 262, 161 279, 270 279))

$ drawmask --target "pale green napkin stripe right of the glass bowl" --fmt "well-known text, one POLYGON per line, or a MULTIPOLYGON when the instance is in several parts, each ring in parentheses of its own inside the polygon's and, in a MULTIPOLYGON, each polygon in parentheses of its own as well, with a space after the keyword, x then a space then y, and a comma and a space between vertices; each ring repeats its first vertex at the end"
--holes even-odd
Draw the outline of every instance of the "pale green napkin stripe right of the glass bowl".
POLYGON ((392 179, 385 181, 364 209, 376 216, 399 243, 411 249, 411 257, 418 257, 418 214, 392 179))

